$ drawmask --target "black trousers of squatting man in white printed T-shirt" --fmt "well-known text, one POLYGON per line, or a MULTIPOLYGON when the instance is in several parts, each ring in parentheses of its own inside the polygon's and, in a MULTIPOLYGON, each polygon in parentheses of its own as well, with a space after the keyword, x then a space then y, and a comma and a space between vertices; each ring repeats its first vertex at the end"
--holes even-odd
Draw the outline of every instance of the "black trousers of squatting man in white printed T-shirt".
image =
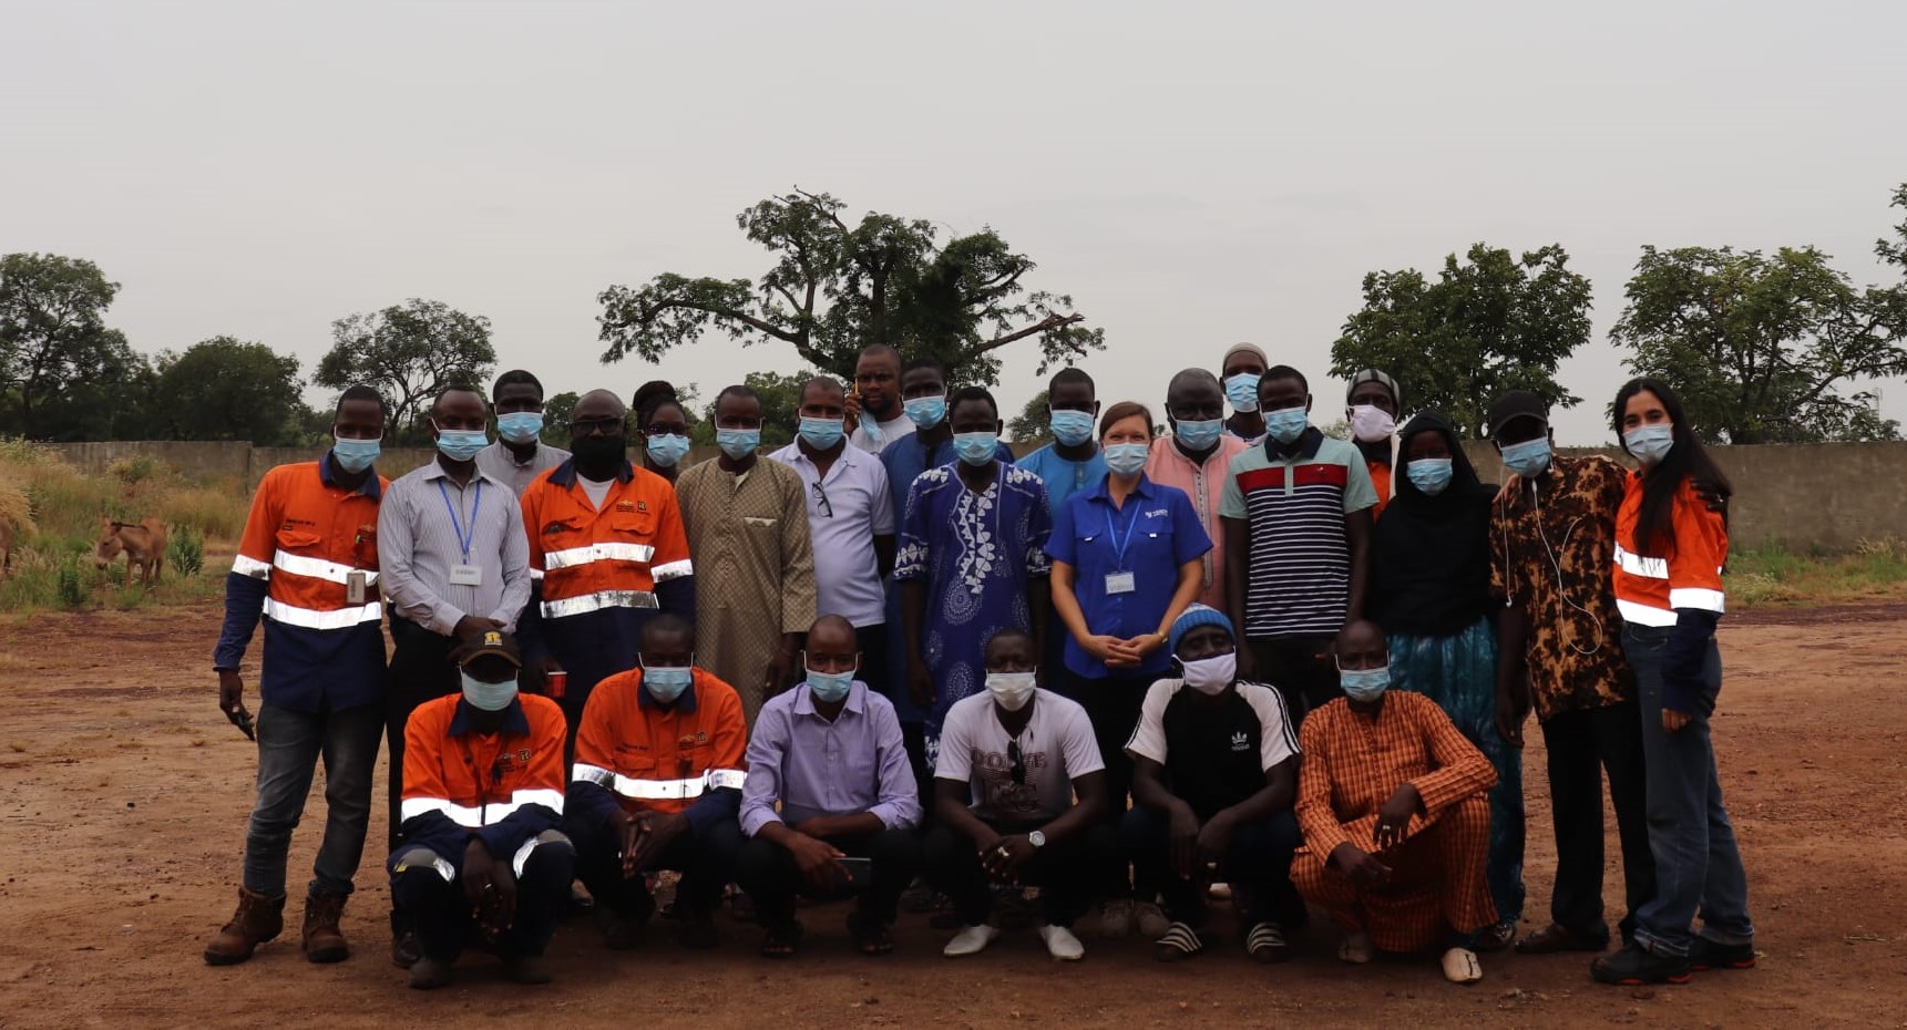
MULTIPOLYGON (((992 822, 1001 835, 1039 830, 1043 822, 992 822)), ((980 866, 980 847, 973 837, 934 826, 927 832, 927 879, 934 889, 954 898, 954 912, 967 925, 984 923, 994 910, 994 887, 980 866)), ((1039 887, 1047 923, 1070 927, 1085 914, 1106 883, 1108 870, 1119 862, 1118 834, 1106 820, 1093 822, 1083 832, 1049 841, 1030 862, 1020 866, 1020 883, 1039 887)))

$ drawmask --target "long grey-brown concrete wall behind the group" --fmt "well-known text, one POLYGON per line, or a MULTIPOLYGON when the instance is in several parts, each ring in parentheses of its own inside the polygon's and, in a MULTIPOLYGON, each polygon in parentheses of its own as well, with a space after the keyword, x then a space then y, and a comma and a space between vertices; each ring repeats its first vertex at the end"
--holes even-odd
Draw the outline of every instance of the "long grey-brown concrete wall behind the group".
MULTIPOLYGON (((114 462, 151 454, 181 473, 208 481, 257 483, 265 469, 284 462, 311 462, 324 448, 254 448, 219 441, 95 441, 40 444, 88 473, 105 473, 114 462)), ((1501 481, 1497 448, 1484 441, 1465 444, 1478 475, 1501 481)), ((431 460, 427 448, 391 448, 378 469, 399 477, 431 460)), ((715 448, 696 448, 683 462, 709 460, 715 448)), ((1610 454, 1619 450, 1564 450, 1610 454)), ((1737 547, 1785 544, 1796 549, 1852 549, 1863 540, 1907 536, 1907 443, 1865 444, 1768 444, 1722 446, 1716 462, 1733 479, 1730 534, 1737 547)))

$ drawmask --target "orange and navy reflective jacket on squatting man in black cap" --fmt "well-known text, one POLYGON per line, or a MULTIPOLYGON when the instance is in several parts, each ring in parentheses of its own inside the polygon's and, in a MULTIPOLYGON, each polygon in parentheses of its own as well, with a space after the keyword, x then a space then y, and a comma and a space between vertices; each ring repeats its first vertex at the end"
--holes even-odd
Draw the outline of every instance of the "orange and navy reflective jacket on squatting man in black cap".
POLYGON ((437 853, 452 879, 463 849, 479 837, 523 876, 540 835, 563 822, 563 710, 519 694, 503 729, 477 732, 461 694, 418 706, 404 725, 404 801, 393 868, 414 849, 437 853))

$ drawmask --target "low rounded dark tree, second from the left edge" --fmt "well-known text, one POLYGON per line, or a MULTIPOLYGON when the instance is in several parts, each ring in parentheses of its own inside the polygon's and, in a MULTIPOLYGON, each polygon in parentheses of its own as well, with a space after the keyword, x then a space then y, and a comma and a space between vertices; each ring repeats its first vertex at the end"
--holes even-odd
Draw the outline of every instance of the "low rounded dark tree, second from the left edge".
POLYGON ((185 353, 158 355, 153 412, 177 441, 252 441, 292 446, 303 439, 297 359, 263 343, 215 336, 185 353))

